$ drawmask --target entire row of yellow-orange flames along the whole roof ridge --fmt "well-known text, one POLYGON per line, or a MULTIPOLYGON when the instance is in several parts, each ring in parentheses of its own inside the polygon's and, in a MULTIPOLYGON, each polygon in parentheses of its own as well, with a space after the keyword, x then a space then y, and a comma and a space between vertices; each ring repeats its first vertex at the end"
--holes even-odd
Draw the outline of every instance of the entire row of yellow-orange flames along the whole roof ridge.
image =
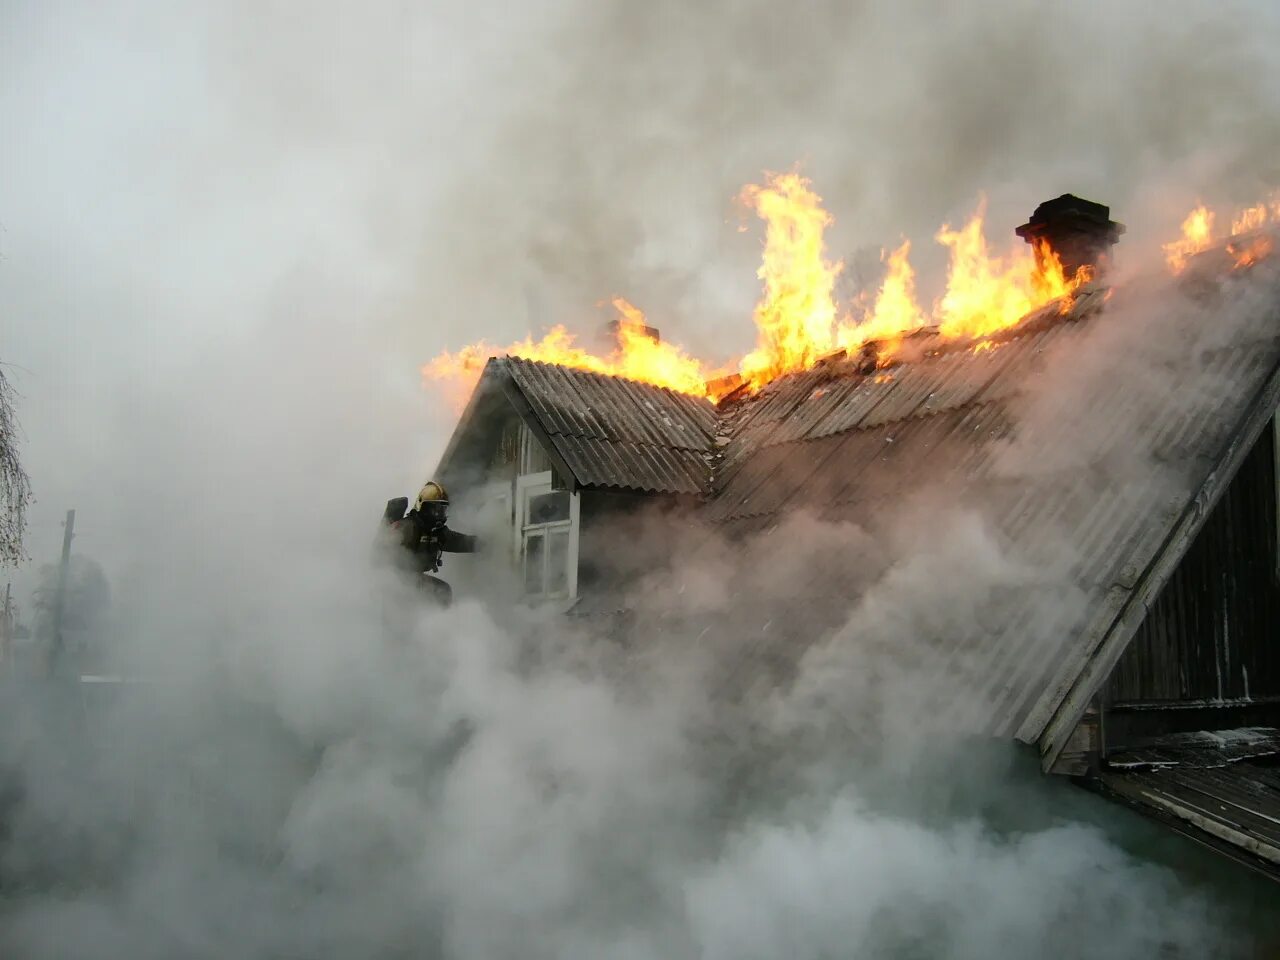
MULTIPOLYGON (((731 372, 731 366, 710 369, 678 346, 652 339, 644 314, 614 297, 617 344, 607 356, 579 346, 568 330, 556 326, 539 340, 527 337, 504 349, 480 342, 457 353, 442 353, 422 367, 424 378, 449 384, 461 404, 486 360, 508 355, 719 401, 731 393, 755 392, 778 376, 820 361, 855 353, 872 342, 876 365, 890 366, 897 362, 904 339, 929 325, 936 325, 943 339, 972 342, 975 352, 995 349, 1000 346, 995 334, 1041 307, 1056 302, 1062 314, 1070 311, 1075 292, 1093 279, 1089 268, 1068 276, 1059 253, 1041 238, 1033 238, 1030 248, 1015 243, 1007 253, 993 253, 986 238, 986 198, 980 198, 964 225, 954 229, 943 224, 936 234, 950 251, 950 264, 945 291, 932 310, 920 307, 911 244, 904 239, 897 248, 881 253, 884 276, 874 301, 841 315, 835 289, 844 264, 828 256, 824 238, 833 219, 809 179, 799 172, 765 174, 763 183, 749 184, 739 198, 764 221, 764 244, 756 271, 763 282, 754 310, 756 346, 732 365, 737 372, 731 372)), ((1215 219, 1215 212, 1199 204, 1183 221, 1183 236, 1164 244, 1175 271, 1213 244, 1215 219)), ((1280 221, 1280 195, 1240 210, 1230 220, 1233 239, 1225 248, 1236 266, 1248 266, 1272 252, 1275 239, 1262 230, 1272 221, 1280 221)))

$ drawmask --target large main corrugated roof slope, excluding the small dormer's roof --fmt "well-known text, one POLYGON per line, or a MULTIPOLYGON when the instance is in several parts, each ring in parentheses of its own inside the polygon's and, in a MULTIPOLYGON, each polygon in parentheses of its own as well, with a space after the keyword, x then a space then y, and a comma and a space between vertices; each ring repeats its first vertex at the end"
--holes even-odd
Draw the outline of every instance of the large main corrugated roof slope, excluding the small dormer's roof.
MULTIPOLYGON (((924 338, 922 358, 888 371, 810 370, 771 384, 730 415, 704 511, 735 534, 764 534, 797 509, 874 529, 933 488, 979 509, 1010 557, 1065 563, 1055 589, 1074 588, 1080 603, 1019 590, 929 643, 941 672, 968 680, 938 714, 1038 741, 1046 768, 1280 398, 1274 308, 1261 326, 1257 311, 1224 324, 1180 399, 1123 355, 1073 389, 1066 367, 1107 321, 1106 296, 1092 291, 1065 316, 1051 305, 988 351, 931 355, 940 344, 924 338), (1046 402, 1061 407, 1028 412, 1020 398, 1050 370, 1060 383, 1046 402), (1037 429, 1019 430, 1032 417, 1037 429), (1139 454, 1143 468, 1120 466, 1139 454)), ((772 653, 759 655, 764 672, 772 653)), ((751 669, 737 664, 740 676, 751 669)))

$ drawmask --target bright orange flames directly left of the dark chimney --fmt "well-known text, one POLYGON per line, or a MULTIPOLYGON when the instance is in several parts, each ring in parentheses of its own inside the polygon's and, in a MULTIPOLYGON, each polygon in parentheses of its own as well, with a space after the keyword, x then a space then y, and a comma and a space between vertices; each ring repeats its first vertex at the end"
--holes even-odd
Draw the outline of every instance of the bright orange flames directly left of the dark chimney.
POLYGON ((936 237, 951 248, 946 291, 933 306, 946 338, 991 337, 1059 297, 1066 298, 1066 312, 1070 294, 1092 279, 1092 271, 1082 268, 1068 280, 1062 261, 1043 241, 1037 241, 1033 251, 1018 246, 1007 256, 993 256, 983 229, 986 215, 983 198, 964 227, 955 230, 943 224, 936 237))

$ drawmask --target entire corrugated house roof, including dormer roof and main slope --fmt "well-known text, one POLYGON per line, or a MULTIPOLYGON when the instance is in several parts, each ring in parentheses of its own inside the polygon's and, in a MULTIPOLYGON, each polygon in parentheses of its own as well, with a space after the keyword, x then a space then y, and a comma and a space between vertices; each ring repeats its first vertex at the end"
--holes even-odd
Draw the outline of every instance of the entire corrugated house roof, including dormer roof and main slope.
MULTIPOLYGON (((801 509, 873 530, 932 489, 980 511, 1009 556, 1057 563, 1044 590, 1078 603, 1028 585, 929 639, 965 678, 938 716, 1038 742, 1047 769, 1280 401, 1274 291, 1208 329, 1156 317, 1146 340, 1100 319, 1111 293, 1048 305, 987 349, 925 332, 909 362, 828 364, 719 408, 515 358, 490 361, 485 380, 581 486, 700 494, 701 518, 731 534, 801 509)), ((726 672, 749 680, 777 652, 744 644, 726 672)))

